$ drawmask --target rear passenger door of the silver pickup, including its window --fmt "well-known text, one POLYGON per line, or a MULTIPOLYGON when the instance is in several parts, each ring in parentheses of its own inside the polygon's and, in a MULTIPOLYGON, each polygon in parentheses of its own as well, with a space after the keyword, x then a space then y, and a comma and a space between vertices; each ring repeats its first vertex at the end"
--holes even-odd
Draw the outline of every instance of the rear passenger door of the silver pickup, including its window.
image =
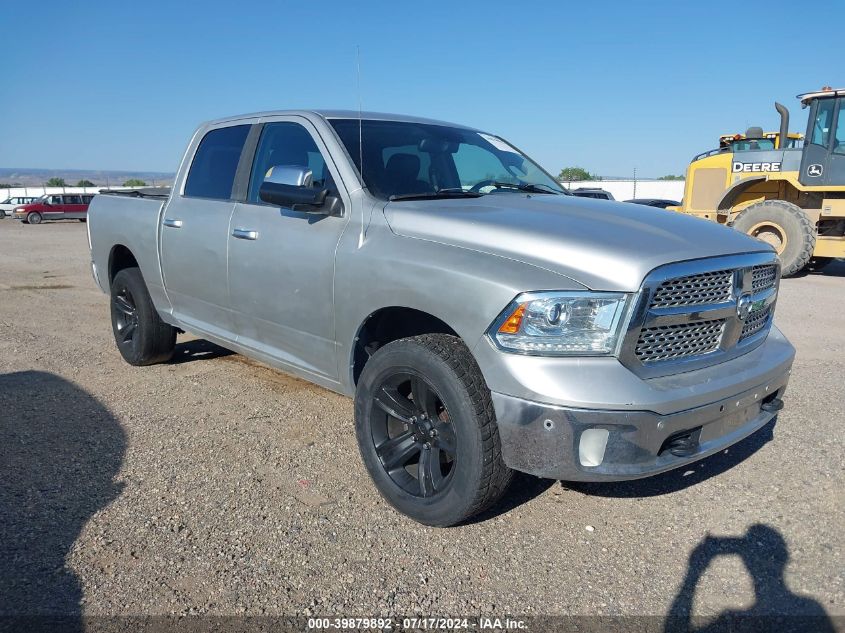
POLYGON ((226 283, 229 220, 250 127, 222 125, 205 133, 159 219, 161 270, 174 316, 225 339, 234 338, 226 283))

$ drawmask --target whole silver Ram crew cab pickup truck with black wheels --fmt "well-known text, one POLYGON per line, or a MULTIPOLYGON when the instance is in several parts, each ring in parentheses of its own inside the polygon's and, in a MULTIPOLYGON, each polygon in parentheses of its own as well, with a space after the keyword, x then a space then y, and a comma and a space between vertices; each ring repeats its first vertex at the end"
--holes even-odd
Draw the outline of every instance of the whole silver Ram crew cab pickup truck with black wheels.
POLYGON ((171 193, 98 195, 88 231, 127 362, 190 331, 353 396, 376 487, 429 525, 513 470, 612 481, 724 449, 782 408, 794 356, 769 246, 569 196, 438 121, 213 121, 171 193))

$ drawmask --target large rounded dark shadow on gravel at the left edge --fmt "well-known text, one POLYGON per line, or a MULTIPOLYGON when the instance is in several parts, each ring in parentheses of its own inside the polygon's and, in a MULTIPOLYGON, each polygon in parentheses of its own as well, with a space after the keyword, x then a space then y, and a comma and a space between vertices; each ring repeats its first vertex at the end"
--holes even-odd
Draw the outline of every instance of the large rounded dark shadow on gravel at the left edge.
POLYGON ((0 375, 0 630, 81 631, 82 586, 66 557, 122 490, 126 434, 59 376, 0 375))

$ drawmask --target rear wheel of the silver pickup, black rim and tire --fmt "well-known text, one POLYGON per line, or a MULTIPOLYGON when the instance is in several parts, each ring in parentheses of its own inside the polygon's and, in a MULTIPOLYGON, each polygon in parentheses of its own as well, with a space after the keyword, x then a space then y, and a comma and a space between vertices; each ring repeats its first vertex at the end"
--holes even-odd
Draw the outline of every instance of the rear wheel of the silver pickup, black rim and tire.
POLYGON ((127 363, 141 366, 170 360, 176 328, 158 316, 139 268, 124 268, 114 276, 110 303, 114 340, 127 363))

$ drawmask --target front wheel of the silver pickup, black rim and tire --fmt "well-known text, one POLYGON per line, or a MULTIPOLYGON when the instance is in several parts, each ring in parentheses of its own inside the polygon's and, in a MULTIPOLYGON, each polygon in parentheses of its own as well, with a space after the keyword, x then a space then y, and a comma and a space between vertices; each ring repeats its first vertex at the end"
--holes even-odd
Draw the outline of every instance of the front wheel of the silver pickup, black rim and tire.
POLYGON ((501 497, 502 460, 490 390, 457 337, 426 334, 380 348, 355 393, 364 465, 381 495, 412 519, 455 525, 501 497))

